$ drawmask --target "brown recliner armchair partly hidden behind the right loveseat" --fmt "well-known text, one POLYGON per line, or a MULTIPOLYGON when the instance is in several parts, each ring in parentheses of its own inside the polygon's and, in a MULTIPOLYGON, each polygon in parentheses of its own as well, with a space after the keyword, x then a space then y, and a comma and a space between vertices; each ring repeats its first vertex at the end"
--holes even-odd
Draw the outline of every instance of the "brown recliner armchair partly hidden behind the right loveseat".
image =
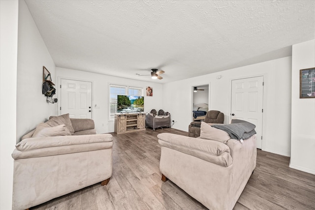
MULTIPOLYGON (((209 110, 207 112, 204 122, 222 124, 224 122, 224 114, 217 110, 209 110)), ((197 122, 197 121, 190 122, 188 126, 189 137, 196 138, 200 136, 200 124, 201 122, 197 122)))

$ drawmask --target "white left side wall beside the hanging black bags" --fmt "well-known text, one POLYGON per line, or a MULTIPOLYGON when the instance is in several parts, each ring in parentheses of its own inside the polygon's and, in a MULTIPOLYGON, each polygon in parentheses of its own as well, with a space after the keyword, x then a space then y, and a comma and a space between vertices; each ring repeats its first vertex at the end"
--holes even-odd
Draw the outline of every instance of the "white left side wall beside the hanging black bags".
MULTIPOLYGON (((51 115, 57 104, 47 103, 42 94, 43 65, 56 82, 56 66, 35 25, 24 0, 19 1, 18 73, 17 73, 17 142, 51 115)), ((56 83, 55 83, 56 84, 56 83)))

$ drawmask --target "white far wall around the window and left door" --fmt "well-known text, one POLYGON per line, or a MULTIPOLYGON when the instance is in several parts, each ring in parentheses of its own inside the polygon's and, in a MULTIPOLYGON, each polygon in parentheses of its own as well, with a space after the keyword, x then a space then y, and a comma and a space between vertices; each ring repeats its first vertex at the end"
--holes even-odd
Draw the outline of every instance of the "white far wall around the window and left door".
MULTIPOLYGON (((114 132, 114 121, 108 121, 109 115, 109 84, 126 85, 140 87, 144 90, 150 86, 153 88, 153 96, 144 96, 144 112, 150 112, 152 109, 162 109, 163 87, 162 84, 131 80, 121 77, 113 77, 103 74, 89 73, 73 69, 59 68, 56 69, 58 76, 58 91, 60 91, 60 79, 74 79, 93 82, 92 88, 92 116, 95 121, 97 133, 114 132), (95 104, 99 109, 95 109, 95 104), (104 124, 104 125, 103 125, 104 124)), ((60 107, 60 98, 58 99, 60 107)), ((164 110, 165 112, 167 110, 164 110)))

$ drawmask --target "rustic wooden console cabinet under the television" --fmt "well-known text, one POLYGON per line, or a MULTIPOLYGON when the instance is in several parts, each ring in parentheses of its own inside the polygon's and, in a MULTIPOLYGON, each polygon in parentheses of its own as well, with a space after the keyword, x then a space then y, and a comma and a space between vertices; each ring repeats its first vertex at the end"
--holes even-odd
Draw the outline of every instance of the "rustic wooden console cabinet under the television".
POLYGON ((115 114, 115 133, 129 133, 146 129, 146 114, 115 114))

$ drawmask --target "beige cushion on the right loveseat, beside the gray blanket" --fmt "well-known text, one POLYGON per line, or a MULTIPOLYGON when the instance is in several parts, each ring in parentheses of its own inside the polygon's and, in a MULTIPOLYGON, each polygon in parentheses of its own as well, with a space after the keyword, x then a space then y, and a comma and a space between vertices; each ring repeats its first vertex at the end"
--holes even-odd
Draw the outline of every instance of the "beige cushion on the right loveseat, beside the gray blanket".
POLYGON ((213 141, 218 141, 222 143, 226 143, 227 140, 231 139, 230 135, 223 130, 212 127, 210 124, 206 122, 201 122, 200 126, 200 138, 208 139, 213 141))

